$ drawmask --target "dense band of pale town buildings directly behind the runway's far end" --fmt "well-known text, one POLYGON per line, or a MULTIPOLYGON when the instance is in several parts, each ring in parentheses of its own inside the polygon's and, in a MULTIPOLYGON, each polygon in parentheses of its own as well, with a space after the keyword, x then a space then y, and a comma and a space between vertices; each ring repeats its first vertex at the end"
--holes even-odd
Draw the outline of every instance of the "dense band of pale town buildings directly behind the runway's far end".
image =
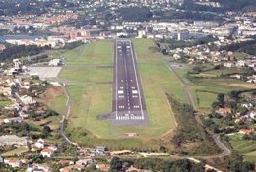
POLYGON ((46 36, 32 39, 7 39, 6 42, 16 45, 37 45, 60 48, 65 43, 73 41, 88 41, 91 39, 115 38, 118 36, 191 40, 207 35, 218 37, 251 36, 256 34, 256 23, 244 17, 235 23, 220 25, 218 22, 194 21, 190 22, 122 22, 112 24, 107 29, 100 29, 100 22, 96 25, 77 29, 75 26, 60 25, 47 27, 52 33, 60 35, 46 36))

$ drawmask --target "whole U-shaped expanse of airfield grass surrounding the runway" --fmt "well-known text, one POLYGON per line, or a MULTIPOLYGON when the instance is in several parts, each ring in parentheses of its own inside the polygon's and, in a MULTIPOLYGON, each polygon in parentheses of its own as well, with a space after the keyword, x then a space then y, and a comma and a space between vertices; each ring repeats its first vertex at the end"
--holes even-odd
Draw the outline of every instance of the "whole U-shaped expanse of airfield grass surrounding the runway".
MULTIPOLYGON (((72 134, 73 141, 89 146, 104 144, 115 149, 147 144, 146 148, 156 149, 160 144, 158 138, 175 127, 166 93, 181 102, 187 102, 180 81, 160 60, 162 55, 149 50, 149 47, 155 46, 153 40, 135 39, 133 43, 146 98, 149 126, 116 127, 111 126, 110 121, 97 118, 100 114, 111 112, 110 82, 113 68, 109 66, 113 65, 114 57, 113 40, 100 40, 61 54, 65 58, 65 65, 59 78, 68 84, 73 103, 66 132, 72 134), (128 132, 138 133, 140 138, 119 140, 128 132)), ((63 98, 59 97, 54 102, 53 109, 57 110, 63 98)))

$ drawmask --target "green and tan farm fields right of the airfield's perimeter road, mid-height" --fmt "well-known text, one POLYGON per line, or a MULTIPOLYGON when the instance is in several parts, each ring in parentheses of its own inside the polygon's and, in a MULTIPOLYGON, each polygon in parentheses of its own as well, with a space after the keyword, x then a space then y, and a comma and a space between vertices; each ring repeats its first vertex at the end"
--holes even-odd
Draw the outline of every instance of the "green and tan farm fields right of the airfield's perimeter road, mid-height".
POLYGON ((190 74, 188 76, 187 71, 191 69, 192 66, 189 65, 187 70, 178 70, 177 74, 185 81, 193 99, 194 108, 203 113, 208 113, 211 110, 211 105, 216 101, 219 93, 227 94, 231 90, 256 88, 254 84, 220 77, 221 75, 226 74, 243 73, 245 71, 244 69, 221 68, 214 70, 213 65, 204 64, 202 67, 203 72, 199 74, 190 74))

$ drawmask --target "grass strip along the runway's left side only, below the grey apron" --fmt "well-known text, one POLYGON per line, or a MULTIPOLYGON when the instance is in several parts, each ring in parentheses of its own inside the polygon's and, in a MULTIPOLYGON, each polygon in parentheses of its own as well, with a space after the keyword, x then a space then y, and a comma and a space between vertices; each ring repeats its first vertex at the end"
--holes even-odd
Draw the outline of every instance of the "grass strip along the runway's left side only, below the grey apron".
POLYGON ((69 130, 78 130, 78 135, 87 130, 96 136, 111 136, 110 123, 97 119, 97 115, 111 112, 112 86, 96 83, 112 81, 112 68, 100 66, 112 65, 113 42, 93 42, 67 51, 63 56, 66 65, 59 77, 75 83, 69 86, 74 104, 69 130))

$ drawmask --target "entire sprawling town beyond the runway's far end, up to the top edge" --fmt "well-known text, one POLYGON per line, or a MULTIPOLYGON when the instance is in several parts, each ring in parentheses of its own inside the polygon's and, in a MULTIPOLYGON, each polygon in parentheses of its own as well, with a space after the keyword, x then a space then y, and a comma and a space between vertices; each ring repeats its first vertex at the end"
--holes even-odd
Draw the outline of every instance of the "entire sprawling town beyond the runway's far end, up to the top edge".
MULTIPOLYGON (((155 20, 149 22, 126 22, 120 19, 118 9, 129 6, 147 6, 151 11, 158 8, 164 11, 164 8, 171 10, 171 3, 182 4, 183 0, 132 0, 132 1, 74 1, 78 11, 74 12, 69 8, 63 7, 62 11, 58 8, 51 8, 47 13, 41 16, 36 15, 17 15, 6 17, 0 24, 0 29, 9 29, 14 31, 15 27, 34 28, 37 32, 48 32, 51 35, 41 36, 37 39, 31 38, 10 38, 6 42, 15 45, 37 45, 50 46, 52 48, 62 48, 66 43, 82 40, 84 42, 92 39, 115 38, 119 36, 155 38, 155 39, 177 39, 191 40, 207 35, 218 37, 239 37, 256 35, 256 23, 254 14, 237 15, 232 21, 220 23, 217 21, 202 20, 178 20, 162 22, 155 20), (108 8, 113 19, 106 20, 104 13, 97 12, 97 8, 108 8), (81 11, 84 9, 85 11, 81 11), (86 13, 87 16, 81 15, 86 13), (85 23, 93 20, 94 24, 85 23)), ((59 3, 59 4, 58 4, 59 3)), ((203 5, 219 7, 218 2, 198 1, 203 5)), ((172 9, 173 10, 173 9, 172 9)), ((32 32, 33 33, 33 32, 32 32)), ((4 47, 1 48, 4 49, 4 47)))

